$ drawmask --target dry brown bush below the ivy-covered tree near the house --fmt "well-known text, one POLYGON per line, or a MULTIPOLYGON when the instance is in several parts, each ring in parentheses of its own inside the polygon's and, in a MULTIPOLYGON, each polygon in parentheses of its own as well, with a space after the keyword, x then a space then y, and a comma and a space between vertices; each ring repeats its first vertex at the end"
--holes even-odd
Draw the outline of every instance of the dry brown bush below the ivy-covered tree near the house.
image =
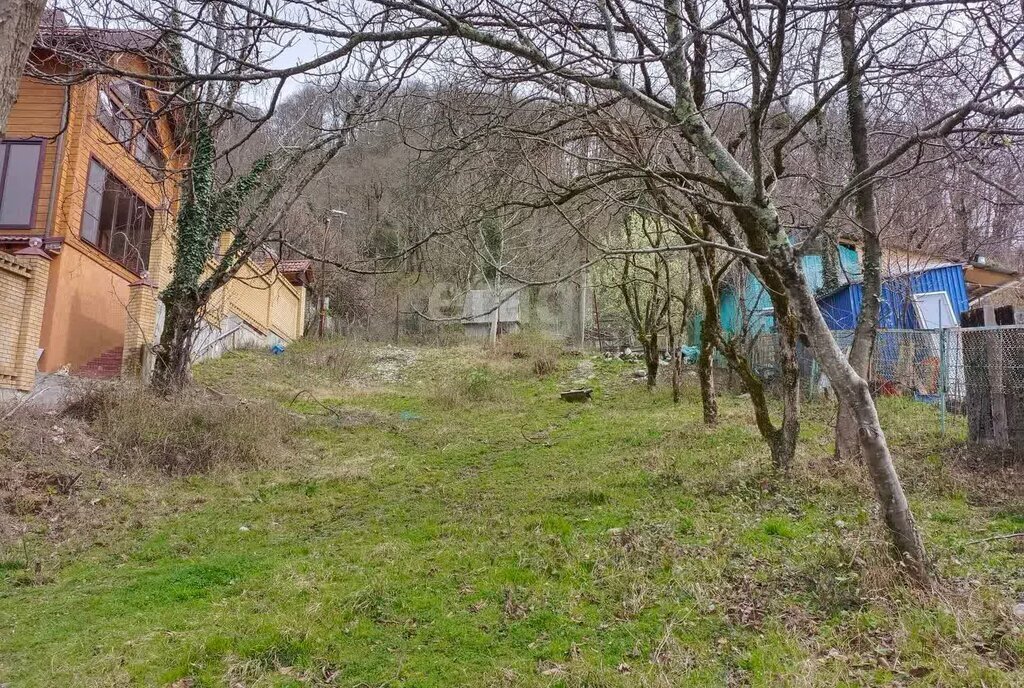
POLYGON ((162 397, 123 386, 91 389, 68 414, 89 423, 112 466, 172 474, 264 464, 280 454, 292 426, 268 401, 196 390, 162 397))

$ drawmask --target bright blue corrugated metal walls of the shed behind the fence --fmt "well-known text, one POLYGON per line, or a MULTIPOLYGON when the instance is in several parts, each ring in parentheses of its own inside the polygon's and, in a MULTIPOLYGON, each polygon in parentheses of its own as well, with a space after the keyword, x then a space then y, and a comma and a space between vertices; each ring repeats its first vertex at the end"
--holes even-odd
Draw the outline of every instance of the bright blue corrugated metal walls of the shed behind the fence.
MULTIPOLYGON (((892 330, 920 329, 910 297, 930 292, 945 292, 958 318, 968 309, 964 265, 946 263, 886 277, 882 283, 879 327, 892 330)), ((818 297, 818 306, 830 329, 853 330, 857 326, 862 298, 863 285, 857 282, 818 297)))

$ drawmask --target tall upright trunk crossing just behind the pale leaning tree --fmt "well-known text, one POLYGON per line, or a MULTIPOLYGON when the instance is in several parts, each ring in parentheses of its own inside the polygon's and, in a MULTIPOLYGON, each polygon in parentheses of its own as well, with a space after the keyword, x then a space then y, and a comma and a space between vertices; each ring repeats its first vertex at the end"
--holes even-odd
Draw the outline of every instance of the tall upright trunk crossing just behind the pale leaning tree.
MULTIPOLYGON (((860 84, 860 64, 856 54, 856 28, 852 3, 843 2, 839 9, 839 36, 843 69, 849 80, 846 89, 847 119, 850 127, 853 173, 860 174, 870 167, 870 153, 866 105, 860 84)), ((850 347, 850 365, 859 377, 866 380, 879 329, 879 305, 882 300, 882 244, 879 240, 874 184, 871 181, 861 184, 857 188, 855 198, 857 220, 863 238, 863 297, 850 347)), ((857 423, 848 404, 840 399, 836 416, 836 458, 851 461, 857 459, 859 454, 857 423)))

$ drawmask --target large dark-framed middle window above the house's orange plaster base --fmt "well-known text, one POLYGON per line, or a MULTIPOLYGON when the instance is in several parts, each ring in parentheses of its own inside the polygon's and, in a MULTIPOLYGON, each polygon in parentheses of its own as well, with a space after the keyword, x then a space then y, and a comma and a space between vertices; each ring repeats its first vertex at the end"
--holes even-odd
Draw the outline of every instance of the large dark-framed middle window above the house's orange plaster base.
POLYGON ((136 274, 150 265, 153 209, 94 160, 89 163, 82 239, 136 274))

